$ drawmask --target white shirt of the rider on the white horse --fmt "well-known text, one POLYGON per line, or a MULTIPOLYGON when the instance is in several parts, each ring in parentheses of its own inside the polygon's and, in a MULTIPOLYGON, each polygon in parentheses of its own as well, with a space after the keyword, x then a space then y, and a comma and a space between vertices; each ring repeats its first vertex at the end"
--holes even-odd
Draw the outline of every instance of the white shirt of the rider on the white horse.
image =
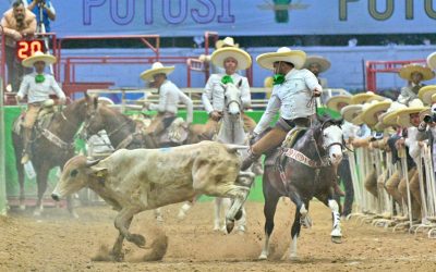
MULTIPOLYGON (((203 106, 207 113, 213 111, 223 111, 226 108, 225 103, 225 88, 221 86, 221 79, 226 74, 213 74, 206 83, 205 91, 202 95, 203 106)), ((245 76, 239 74, 232 74, 230 76, 233 79, 233 84, 239 85, 241 82, 241 100, 242 106, 247 108, 252 103, 250 96, 249 79, 245 76)))

